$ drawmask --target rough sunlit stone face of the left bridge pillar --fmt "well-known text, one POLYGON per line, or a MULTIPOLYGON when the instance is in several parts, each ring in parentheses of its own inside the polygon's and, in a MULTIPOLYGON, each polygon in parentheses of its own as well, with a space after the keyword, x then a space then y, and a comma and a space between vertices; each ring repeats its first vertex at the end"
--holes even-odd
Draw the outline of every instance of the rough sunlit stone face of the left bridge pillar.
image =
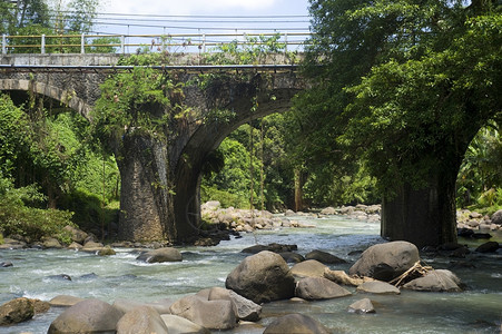
POLYGON ((127 132, 121 140, 117 158, 122 179, 119 239, 173 240, 177 233, 166 143, 139 130, 127 132))

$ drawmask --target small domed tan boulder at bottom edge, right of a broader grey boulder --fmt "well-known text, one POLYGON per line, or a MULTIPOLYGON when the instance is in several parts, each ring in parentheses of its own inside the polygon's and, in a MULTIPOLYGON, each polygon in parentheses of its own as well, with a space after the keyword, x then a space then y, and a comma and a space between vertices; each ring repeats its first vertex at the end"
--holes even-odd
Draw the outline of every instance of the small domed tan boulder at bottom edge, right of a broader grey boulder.
POLYGON ((163 318, 152 307, 139 306, 126 313, 117 323, 117 334, 168 334, 163 318))

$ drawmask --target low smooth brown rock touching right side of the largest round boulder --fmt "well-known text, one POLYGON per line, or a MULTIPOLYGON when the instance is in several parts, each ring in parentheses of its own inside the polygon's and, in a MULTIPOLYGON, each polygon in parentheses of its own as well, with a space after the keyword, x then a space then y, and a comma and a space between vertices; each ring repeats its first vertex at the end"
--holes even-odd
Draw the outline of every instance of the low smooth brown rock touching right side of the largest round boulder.
POLYGON ((305 301, 317 301, 339 298, 352 294, 327 278, 307 277, 296 284, 295 295, 305 301))

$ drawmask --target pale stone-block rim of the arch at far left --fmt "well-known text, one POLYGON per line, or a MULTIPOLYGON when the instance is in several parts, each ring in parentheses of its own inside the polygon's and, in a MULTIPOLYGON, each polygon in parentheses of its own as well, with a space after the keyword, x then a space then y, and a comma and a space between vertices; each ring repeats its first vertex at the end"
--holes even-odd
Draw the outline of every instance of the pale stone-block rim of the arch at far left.
POLYGON ((75 90, 61 89, 45 82, 26 79, 1 79, 0 90, 33 91, 58 100, 79 112, 86 119, 89 119, 91 107, 83 99, 79 98, 75 90))

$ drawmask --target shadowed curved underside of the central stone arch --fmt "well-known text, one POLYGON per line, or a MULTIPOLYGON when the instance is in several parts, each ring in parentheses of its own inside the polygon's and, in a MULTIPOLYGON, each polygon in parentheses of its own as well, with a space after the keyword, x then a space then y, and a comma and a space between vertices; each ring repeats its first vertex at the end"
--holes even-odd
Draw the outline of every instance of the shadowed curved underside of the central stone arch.
MULTIPOLYGON (((201 168, 209 153, 239 126, 267 115, 284 112, 292 106, 292 98, 304 89, 296 81, 294 73, 280 75, 283 81, 274 87, 257 92, 253 84, 243 87, 237 98, 226 105, 235 110, 235 117, 229 121, 214 120, 199 126, 183 146, 183 150, 174 157, 174 220, 176 239, 189 240, 198 234, 200 226, 200 180, 201 168), (287 77, 287 79, 285 79, 287 77), (257 97, 258 107, 252 110, 253 98, 257 97)), ((235 88, 235 87, 234 87, 235 88)), ((226 94, 220 89, 220 94, 226 94)), ((218 98, 217 98, 218 99, 218 98)))

